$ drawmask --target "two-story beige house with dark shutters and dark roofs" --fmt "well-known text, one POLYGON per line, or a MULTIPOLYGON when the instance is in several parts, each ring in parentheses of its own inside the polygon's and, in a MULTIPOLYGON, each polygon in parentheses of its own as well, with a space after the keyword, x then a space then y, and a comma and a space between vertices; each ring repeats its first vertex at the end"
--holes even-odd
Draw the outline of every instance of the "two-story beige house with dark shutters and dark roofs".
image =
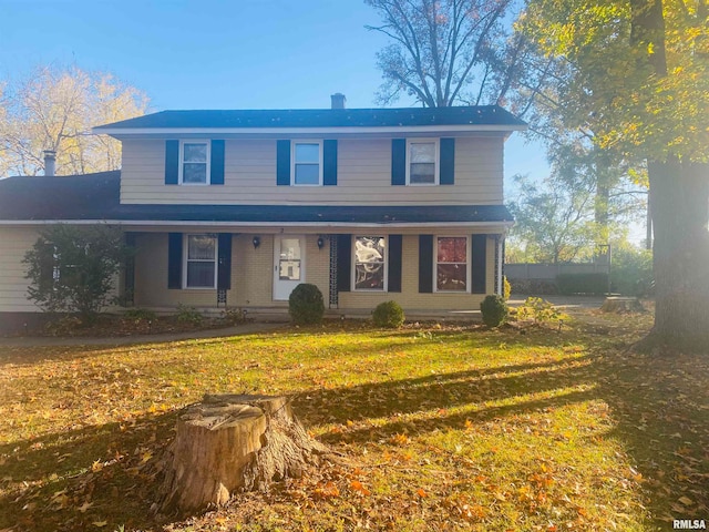
POLYGON ((339 311, 476 309, 500 293, 499 106, 164 111, 102 125, 120 172, 0 182, 0 313, 32 313, 22 257, 44 224, 106 222, 137 249, 138 307, 286 307, 312 283, 339 311))

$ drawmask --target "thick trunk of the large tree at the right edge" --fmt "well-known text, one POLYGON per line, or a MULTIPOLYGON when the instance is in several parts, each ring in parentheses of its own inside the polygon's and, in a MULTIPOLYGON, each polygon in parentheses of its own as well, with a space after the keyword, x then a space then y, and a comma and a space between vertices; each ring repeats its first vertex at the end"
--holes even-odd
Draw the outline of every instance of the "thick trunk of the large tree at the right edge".
POLYGON ((655 228, 654 339, 709 348, 709 165, 648 163, 655 228))

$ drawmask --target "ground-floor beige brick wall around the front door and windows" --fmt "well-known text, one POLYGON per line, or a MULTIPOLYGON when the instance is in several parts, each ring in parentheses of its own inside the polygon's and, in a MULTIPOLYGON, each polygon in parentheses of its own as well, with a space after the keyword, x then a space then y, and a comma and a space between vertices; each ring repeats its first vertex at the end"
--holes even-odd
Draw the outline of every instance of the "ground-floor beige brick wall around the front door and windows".
MULTIPOLYGON (((442 233, 441 233, 442 234, 442 233)), ((450 231, 446 235, 466 235, 450 231)), ((251 234, 235 235, 232 245, 232 289, 227 291, 229 307, 287 307, 287 301, 273 300, 274 235, 259 235, 261 244, 254 248, 251 234)), ((330 250, 329 239, 322 249, 317 247, 318 235, 306 235, 305 280, 320 288, 326 307, 329 301, 330 250)), ((476 310, 485 297, 480 294, 419 294, 419 236, 402 238, 402 291, 371 293, 343 291, 339 294, 339 308, 373 309, 379 303, 393 299, 404 309, 424 310, 476 310)), ((145 233, 137 236, 135 264, 135 305, 138 307, 166 308, 178 304, 216 308, 216 290, 191 290, 167 288, 167 234, 145 233)), ((494 287, 494 238, 487 238, 486 286, 492 294, 494 287)))

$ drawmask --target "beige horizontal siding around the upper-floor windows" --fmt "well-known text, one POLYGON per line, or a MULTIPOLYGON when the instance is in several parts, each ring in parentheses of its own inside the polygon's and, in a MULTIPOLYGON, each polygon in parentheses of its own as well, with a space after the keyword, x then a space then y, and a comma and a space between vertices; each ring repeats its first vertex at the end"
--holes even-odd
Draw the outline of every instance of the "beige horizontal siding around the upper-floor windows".
POLYGON ((503 139, 455 140, 455 184, 391 185, 391 140, 338 141, 337 186, 277 186, 275 140, 227 140, 224 185, 165 185, 165 141, 123 141, 121 202, 144 204, 499 205, 503 139))

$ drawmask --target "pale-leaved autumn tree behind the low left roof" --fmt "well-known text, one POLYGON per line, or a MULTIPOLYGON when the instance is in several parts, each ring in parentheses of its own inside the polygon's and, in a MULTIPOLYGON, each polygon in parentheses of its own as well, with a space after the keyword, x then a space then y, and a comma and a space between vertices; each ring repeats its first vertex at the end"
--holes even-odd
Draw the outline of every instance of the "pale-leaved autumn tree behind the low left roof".
POLYGON ((43 151, 56 152, 56 174, 116 170, 121 143, 93 135, 95 125, 145 113, 147 98, 111 74, 78 66, 38 66, 0 81, 0 176, 37 175, 43 151), (3 96, 4 94, 4 96, 3 96))

